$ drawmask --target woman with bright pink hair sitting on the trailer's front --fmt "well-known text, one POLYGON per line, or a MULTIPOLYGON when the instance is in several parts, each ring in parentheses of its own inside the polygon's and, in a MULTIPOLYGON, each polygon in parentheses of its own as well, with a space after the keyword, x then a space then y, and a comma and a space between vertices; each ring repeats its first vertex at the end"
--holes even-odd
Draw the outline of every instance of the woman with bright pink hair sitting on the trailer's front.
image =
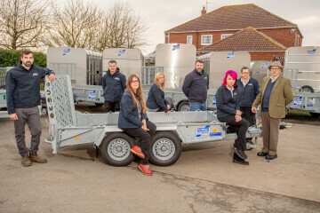
POLYGON ((240 112, 236 90, 236 77, 236 71, 228 70, 216 93, 217 118, 220 122, 227 122, 230 125, 229 130, 236 131, 237 138, 234 144, 233 162, 249 165, 249 162, 244 161, 244 159, 247 159, 244 151, 246 150, 245 133, 249 128, 249 122, 241 116, 242 112, 240 112))

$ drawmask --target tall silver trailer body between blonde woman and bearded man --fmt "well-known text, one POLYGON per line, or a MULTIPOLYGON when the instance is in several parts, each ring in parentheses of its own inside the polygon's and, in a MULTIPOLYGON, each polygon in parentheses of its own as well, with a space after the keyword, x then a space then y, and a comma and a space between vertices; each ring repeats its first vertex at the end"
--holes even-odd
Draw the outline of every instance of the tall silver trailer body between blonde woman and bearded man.
POLYGON ((195 68, 196 46, 182 43, 156 45, 156 67, 164 67, 165 87, 181 88, 184 78, 195 68))

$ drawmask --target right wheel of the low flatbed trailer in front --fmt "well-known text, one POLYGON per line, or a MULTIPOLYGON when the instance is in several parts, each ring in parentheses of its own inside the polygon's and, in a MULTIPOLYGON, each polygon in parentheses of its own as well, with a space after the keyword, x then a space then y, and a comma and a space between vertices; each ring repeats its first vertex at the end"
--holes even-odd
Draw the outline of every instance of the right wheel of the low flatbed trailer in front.
POLYGON ((170 131, 158 131, 151 138, 150 162, 156 166, 170 166, 181 155, 181 141, 170 131))

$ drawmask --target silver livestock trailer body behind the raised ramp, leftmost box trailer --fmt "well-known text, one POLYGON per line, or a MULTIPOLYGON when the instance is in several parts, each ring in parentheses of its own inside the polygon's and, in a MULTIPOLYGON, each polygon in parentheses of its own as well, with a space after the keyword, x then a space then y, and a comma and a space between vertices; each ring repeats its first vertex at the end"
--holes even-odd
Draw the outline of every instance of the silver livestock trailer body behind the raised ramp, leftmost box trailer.
POLYGON ((49 47, 47 67, 69 75, 73 85, 101 85, 102 54, 82 48, 49 47))

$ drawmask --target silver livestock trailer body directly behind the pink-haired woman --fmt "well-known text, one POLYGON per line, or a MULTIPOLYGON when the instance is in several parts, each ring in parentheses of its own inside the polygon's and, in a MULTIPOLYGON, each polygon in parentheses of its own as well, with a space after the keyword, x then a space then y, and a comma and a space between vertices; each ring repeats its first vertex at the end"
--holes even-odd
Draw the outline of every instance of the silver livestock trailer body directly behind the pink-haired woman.
POLYGON ((242 67, 250 67, 251 56, 247 51, 212 51, 199 57, 204 61, 204 71, 209 75, 209 88, 218 89, 226 72, 235 70, 238 75, 242 67))

